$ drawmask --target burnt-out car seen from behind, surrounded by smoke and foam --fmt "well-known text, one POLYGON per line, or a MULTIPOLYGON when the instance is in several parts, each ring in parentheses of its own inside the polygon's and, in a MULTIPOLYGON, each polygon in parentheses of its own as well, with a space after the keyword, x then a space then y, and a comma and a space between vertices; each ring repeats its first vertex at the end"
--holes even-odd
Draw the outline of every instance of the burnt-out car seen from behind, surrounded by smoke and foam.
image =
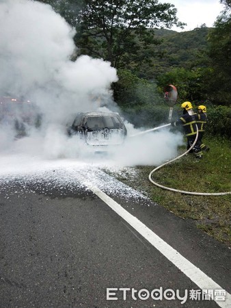
POLYGON ((116 112, 80 112, 68 126, 68 135, 77 135, 91 146, 118 145, 124 142, 126 127, 116 112))

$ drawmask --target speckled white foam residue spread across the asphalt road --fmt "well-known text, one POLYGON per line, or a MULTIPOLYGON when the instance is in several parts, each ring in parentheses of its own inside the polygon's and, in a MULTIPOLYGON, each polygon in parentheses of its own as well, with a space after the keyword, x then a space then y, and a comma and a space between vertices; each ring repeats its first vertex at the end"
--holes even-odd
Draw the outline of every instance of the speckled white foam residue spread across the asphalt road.
POLYGON ((139 201, 141 198, 146 198, 142 192, 133 190, 90 164, 79 164, 69 160, 40 162, 37 166, 31 162, 28 167, 28 170, 18 168, 14 172, 1 174, 0 192, 5 192, 5 198, 10 199, 12 194, 22 196, 35 192, 49 197, 57 194, 59 197, 64 197, 70 194, 78 195, 82 190, 87 195, 90 193, 89 185, 126 200, 133 198, 139 201))

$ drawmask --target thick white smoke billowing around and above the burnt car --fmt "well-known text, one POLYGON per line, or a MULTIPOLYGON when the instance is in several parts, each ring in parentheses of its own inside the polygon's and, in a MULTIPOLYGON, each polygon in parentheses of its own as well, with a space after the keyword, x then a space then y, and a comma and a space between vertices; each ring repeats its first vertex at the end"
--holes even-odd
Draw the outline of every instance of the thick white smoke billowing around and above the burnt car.
MULTIPOLYGON (((50 5, 0 0, 0 97, 10 95, 33 101, 46 124, 18 140, 14 140, 9 126, 1 124, 1 154, 10 157, 16 153, 30 159, 87 158, 90 149, 68 138, 64 123, 70 114, 102 110, 98 97, 107 101, 109 110, 115 110, 111 83, 118 77, 109 62, 87 55, 75 62, 70 60, 76 49, 74 34, 50 5)), ((137 132, 130 123, 126 127, 128 135, 137 132)), ((113 159, 116 164, 130 166, 159 164, 176 155, 181 143, 182 136, 169 131, 148 133, 128 138, 114 150, 113 159)))

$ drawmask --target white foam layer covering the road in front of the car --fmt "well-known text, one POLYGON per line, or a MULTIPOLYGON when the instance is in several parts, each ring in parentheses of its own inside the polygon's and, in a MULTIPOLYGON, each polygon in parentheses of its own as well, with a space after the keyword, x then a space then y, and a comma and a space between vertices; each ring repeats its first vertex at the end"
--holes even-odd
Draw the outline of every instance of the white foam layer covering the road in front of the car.
POLYGON ((14 193, 26 194, 35 191, 53 195, 54 189, 60 196, 68 193, 76 194, 81 189, 87 194, 85 183, 92 183, 111 196, 137 200, 146 198, 141 192, 133 190, 108 175, 104 172, 105 168, 120 172, 120 175, 126 173, 131 177, 137 177, 134 168, 118 168, 114 162, 106 159, 104 162, 101 159, 97 162, 95 158, 91 162, 77 159, 39 159, 25 155, 1 155, 0 192, 5 191, 5 198, 10 198, 14 193), (18 187, 21 188, 20 191, 18 187))

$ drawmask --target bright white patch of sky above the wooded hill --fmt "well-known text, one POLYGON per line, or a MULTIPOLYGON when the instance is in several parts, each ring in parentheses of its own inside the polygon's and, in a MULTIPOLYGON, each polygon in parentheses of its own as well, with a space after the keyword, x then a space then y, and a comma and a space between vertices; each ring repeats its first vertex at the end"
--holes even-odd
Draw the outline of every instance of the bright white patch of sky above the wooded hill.
POLYGON ((179 21, 187 23, 183 30, 172 27, 174 31, 190 31, 204 23, 207 27, 213 27, 217 16, 224 8, 219 0, 166 0, 161 2, 174 4, 178 11, 176 16, 179 21))

